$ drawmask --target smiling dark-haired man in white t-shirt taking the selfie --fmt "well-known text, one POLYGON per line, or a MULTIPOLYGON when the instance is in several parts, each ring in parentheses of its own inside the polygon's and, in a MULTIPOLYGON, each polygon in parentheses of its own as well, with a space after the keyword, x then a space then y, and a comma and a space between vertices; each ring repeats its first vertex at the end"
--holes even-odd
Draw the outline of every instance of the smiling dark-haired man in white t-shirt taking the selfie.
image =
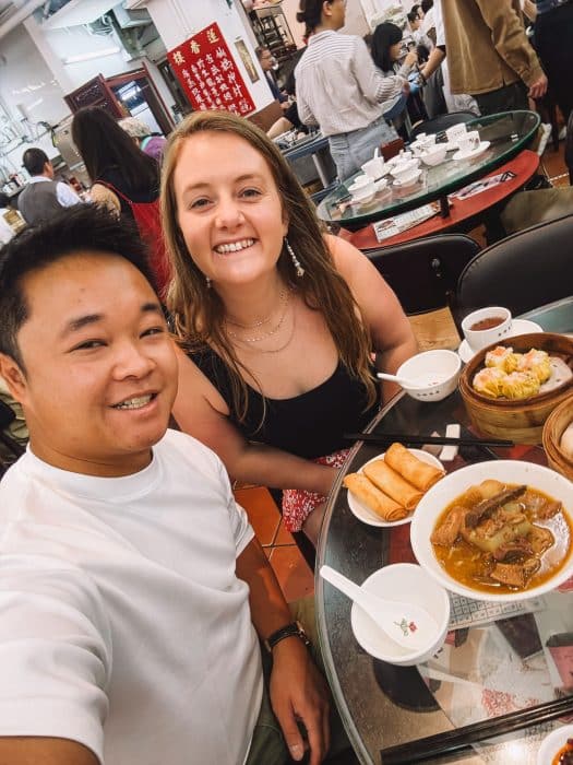
POLYGON ((0 374, 29 448, 0 483, 0 762, 274 765, 278 720, 318 765, 305 636, 218 458, 166 431, 177 361, 151 283, 134 229, 91 205, 2 252, 0 374))

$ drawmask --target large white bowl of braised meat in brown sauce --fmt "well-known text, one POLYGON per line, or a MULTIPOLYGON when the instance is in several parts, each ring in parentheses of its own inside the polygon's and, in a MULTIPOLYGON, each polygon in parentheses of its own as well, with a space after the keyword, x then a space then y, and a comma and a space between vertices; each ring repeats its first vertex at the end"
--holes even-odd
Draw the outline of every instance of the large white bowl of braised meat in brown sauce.
POLYGON ((573 484, 533 462, 493 460, 446 475, 414 513, 420 566, 477 600, 523 600, 573 575, 573 484))

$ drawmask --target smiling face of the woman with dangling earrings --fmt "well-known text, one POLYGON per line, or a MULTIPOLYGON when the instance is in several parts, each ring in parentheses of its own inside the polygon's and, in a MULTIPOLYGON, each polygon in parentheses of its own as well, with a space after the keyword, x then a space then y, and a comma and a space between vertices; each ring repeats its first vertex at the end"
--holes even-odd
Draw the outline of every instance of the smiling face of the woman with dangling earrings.
POLYGON ((186 139, 174 189, 187 248, 215 286, 252 284, 276 268, 288 221, 266 160, 244 139, 186 139))

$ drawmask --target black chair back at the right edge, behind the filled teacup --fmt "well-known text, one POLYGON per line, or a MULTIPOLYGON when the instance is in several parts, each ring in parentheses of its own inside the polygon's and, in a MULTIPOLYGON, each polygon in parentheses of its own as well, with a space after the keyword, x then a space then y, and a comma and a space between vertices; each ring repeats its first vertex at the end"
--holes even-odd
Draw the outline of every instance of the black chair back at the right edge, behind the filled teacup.
POLYGON ((457 327, 476 308, 501 305, 514 316, 573 294, 573 214, 524 228, 481 250, 459 275, 457 327))

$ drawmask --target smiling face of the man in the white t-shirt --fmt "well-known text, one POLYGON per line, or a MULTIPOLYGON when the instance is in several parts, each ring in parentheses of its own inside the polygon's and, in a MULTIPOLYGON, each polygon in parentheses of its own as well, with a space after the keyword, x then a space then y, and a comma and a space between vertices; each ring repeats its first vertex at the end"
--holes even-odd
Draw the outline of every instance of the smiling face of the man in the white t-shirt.
POLYGON ((123 258, 79 252, 24 278, 25 373, 0 356, 34 454, 91 475, 143 469, 164 435, 177 361, 155 293, 123 258))

